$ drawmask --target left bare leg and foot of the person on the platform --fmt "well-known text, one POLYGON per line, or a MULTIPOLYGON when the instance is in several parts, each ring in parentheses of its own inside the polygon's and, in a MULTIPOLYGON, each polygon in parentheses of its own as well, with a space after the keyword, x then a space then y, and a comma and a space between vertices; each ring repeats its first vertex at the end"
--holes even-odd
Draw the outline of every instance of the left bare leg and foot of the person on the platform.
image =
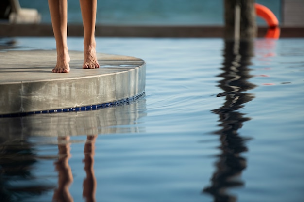
POLYGON ((52 72, 69 72, 67 45, 68 1, 48 0, 53 32, 56 40, 57 63, 52 72))

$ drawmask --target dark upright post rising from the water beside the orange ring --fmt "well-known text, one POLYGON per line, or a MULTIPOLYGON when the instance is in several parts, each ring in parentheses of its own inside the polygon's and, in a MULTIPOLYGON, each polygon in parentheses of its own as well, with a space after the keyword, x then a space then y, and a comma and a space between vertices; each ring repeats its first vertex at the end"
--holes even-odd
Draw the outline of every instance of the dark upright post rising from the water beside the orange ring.
POLYGON ((224 0, 226 40, 248 40, 256 37, 254 0, 224 0), (239 27, 238 27, 239 26, 239 27))

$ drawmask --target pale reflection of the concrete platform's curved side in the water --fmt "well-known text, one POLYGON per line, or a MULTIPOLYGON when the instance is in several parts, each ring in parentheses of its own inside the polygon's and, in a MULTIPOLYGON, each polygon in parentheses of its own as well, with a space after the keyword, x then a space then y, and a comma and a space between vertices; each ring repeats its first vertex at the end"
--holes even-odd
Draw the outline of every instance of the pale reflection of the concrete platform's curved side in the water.
POLYGON ((16 137, 65 137, 145 132, 137 122, 146 115, 146 100, 139 98, 129 105, 100 110, 0 118, 0 139, 7 134, 16 137))

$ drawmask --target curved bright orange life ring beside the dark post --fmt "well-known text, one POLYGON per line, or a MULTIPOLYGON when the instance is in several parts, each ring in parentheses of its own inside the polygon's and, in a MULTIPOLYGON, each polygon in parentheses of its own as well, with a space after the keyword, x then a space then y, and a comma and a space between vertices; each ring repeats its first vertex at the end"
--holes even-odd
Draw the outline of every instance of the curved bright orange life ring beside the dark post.
POLYGON ((268 31, 265 38, 278 39, 280 37, 279 21, 269 8, 258 3, 254 3, 256 15, 262 17, 268 24, 268 31))

